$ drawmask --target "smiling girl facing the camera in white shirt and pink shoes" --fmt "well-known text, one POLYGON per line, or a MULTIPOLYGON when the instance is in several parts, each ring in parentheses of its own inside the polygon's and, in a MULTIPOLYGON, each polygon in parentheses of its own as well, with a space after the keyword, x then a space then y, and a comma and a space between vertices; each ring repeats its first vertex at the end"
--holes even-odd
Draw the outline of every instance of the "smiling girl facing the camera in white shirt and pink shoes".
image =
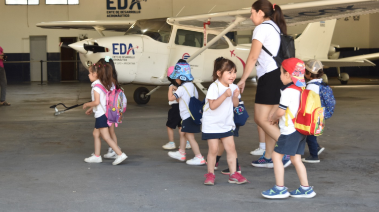
POLYGON ((208 174, 205 185, 214 185, 214 168, 220 139, 226 150, 229 166, 229 183, 242 184, 248 182, 236 170, 237 152, 234 145, 233 107, 237 107, 241 98, 238 86, 233 84, 236 78, 236 67, 225 58, 217 58, 214 62, 213 80, 205 97, 202 121, 202 140, 208 141, 208 174))

